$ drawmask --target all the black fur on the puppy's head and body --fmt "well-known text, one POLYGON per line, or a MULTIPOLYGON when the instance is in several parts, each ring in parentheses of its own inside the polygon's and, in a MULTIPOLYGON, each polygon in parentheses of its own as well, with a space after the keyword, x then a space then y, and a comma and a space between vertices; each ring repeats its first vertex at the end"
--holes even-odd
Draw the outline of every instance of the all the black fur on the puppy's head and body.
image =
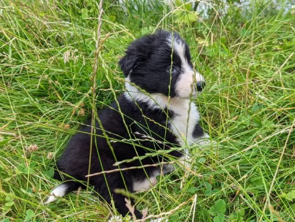
MULTIPOLYGON (((125 77, 128 76, 131 82, 149 93, 168 95, 169 84, 171 84, 170 95, 174 97, 176 94, 174 86, 181 67, 179 58, 177 58, 174 52, 173 63, 176 71, 170 80, 170 70, 168 68, 171 65, 172 49, 166 43, 169 34, 170 32, 159 31, 156 34, 147 35, 135 40, 128 47, 126 55, 119 61, 119 64, 125 77)), ((175 36, 183 41, 178 34, 175 33, 175 36)), ((191 65, 188 47, 186 47, 185 53, 191 65)), ((58 170, 62 172, 62 176, 64 177, 64 183, 68 186, 67 192, 73 191, 81 185, 77 181, 87 181, 85 176, 88 174, 89 165, 90 173, 117 169, 118 167, 115 167, 114 164, 118 161, 132 159, 137 156, 145 156, 145 154, 156 150, 169 150, 171 147, 179 146, 176 136, 171 131, 165 129, 167 119, 173 118, 173 111, 149 108, 148 104, 144 102, 135 103, 127 99, 125 94, 118 97, 118 104, 121 113, 123 113, 123 118, 119 113, 116 102, 113 102, 110 108, 99 111, 98 113, 101 125, 96 121, 96 137, 92 140, 90 164, 90 126, 82 127, 80 129, 81 132, 70 139, 57 164, 58 170), (167 115, 169 116, 168 118, 167 115), (144 139, 143 135, 148 135, 153 140, 144 139), (125 141, 120 141, 122 139, 125 139, 125 141)), ((90 120, 87 122, 87 125, 91 125, 90 120)), ((170 127, 169 124, 167 126, 168 128, 170 127)), ((194 134, 196 134, 195 136, 204 135, 200 125, 196 125, 194 134)), ((179 158, 182 153, 171 151, 169 155, 179 158)), ((154 164, 166 159, 167 157, 159 155, 154 157, 149 156, 141 161, 134 160, 130 163, 123 163, 119 167, 125 168, 154 164)), ((89 178, 89 184, 94 186, 98 194, 108 203, 113 198, 118 212, 126 215, 128 209, 125 207, 125 197, 117 194, 114 190, 123 189, 133 192, 132 186, 134 180, 144 180, 146 174, 150 176, 156 169, 158 167, 145 167, 145 169, 117 171, 104 175, 91 176, 89 178)), ((55 178, 61 180, 58 171, 55 173, 55 178)), ((134 204, 133 200, 132 204, 134 204)), ((138 210, 136 210, 135 214, 138 218, 142 217, 138 210)))

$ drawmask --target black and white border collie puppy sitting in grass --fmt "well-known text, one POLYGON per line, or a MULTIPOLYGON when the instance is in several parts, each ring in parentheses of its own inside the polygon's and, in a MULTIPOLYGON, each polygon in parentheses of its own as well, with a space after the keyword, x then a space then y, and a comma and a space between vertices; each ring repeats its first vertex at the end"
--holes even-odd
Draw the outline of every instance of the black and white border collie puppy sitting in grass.
MULTIPOLYGON (((99 111, 92 139, 91 120, 70 139, 54 176, 64 182, 51 192, 47 203, 83 187, 89 172, 138 167, 89 177, 95 191, 108 203, 113 198, 124 216, 128 213, 125 196, 116 189, 131 193, 149 189, 157 183, 157 175, 174 170, 160 162, 173 158, 185 164, 189 153, 181 147, 207 137, 199 125, 197 107, 190 101, 205 81, 194 70, 189 48, 176 32, 159 30, 133 41, 119 65, 126 92, 99 111), (158 165, 142 167, 152 164, 158 165)), ((138 210, 135 215, 142 218, 138 210)))

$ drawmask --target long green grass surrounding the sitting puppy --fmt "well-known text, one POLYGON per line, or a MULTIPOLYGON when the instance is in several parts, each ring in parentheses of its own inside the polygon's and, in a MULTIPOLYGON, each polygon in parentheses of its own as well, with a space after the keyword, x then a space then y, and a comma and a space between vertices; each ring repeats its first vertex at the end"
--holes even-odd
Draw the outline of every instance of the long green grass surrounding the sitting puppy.
MULTIPOLYGON (((177 30, 207 80, 196 102, 217 144, 191 146, 194 171, 179 169, 136 194, 138 208, 181 222, 295 221, 294 9, 286 10, 288 1, 281 8, 207 2, 207 14, 196 16, 193 5, 178 1, 172 9, 160 1, 105 1, 95 106, 122 92, 118 59, 133 39, 177 30)), ((0 1, 3 222, 116 214, 91 188, 42 204, 59 184, 53 169, 67 141, 91 116, 98 15, 93 0, 0 1)))

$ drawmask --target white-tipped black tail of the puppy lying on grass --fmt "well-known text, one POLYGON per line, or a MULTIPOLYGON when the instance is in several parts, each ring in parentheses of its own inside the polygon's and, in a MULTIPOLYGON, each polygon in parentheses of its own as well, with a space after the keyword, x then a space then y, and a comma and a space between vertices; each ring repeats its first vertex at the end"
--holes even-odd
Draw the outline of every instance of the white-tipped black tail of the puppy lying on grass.
POLYGON ((59 197, 62 197, 71 191, 77 190, 78 188, 79 184, 76 182, 64 182, 63 184, 57 186, 52 192, 50 192, 50 195, 48 199, 44 202, 44 204, 49 204, 57 200, 59 197))

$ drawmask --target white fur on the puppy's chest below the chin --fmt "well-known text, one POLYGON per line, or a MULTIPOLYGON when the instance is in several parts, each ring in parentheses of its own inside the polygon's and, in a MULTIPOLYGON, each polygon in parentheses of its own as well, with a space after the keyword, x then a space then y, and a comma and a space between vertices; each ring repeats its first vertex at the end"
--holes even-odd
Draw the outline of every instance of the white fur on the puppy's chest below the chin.
POLYGON ((179 144, 192 144, 196 140, 193 132, 200 120, 196 105, 189 100, 173 99, 169 108, 174 112, 173 118, 170 120, 170 128, 177 136, 179 144))

